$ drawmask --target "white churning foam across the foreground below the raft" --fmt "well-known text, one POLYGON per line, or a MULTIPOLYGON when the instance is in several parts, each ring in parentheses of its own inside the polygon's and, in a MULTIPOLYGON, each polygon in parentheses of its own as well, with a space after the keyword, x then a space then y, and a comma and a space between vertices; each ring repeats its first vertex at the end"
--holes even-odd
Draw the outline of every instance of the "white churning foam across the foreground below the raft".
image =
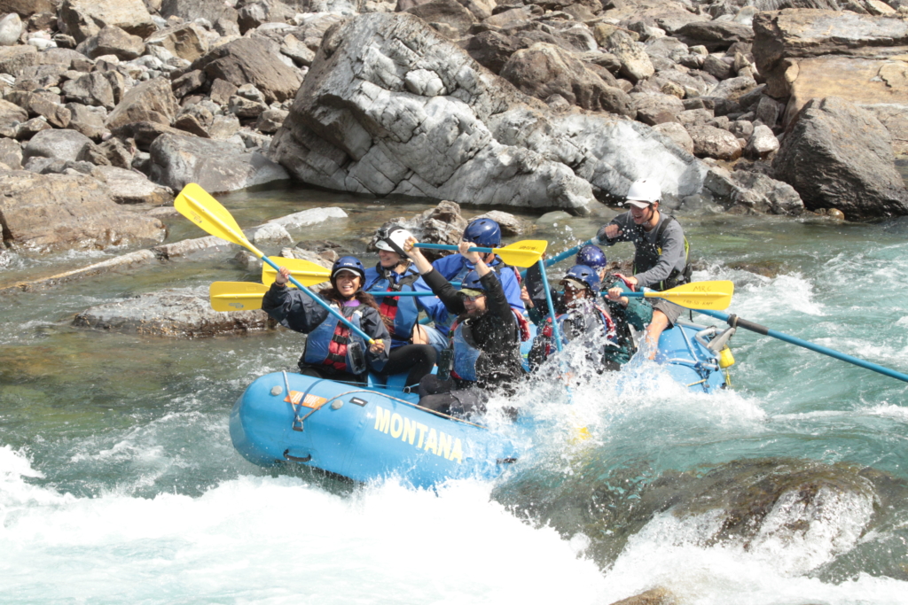
POLYGON ((485 483, 341 497, 240 477, 196 498, 76 498, 27 483, 8 447, 0 465, 5 603, 594 603, 605 586, 576 542, 489 502, 485 483))

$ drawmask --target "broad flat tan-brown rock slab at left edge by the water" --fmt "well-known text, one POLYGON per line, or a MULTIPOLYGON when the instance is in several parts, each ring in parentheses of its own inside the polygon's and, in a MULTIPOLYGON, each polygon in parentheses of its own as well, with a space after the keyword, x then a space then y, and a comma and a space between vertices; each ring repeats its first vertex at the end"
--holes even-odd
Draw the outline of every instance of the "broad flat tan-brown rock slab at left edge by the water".
POLYGON ((0 189, 7 246, 41 252, 105 249, 160 241, 165 234, 160 220, 123 210, 92 177, 0 172, 0 189))

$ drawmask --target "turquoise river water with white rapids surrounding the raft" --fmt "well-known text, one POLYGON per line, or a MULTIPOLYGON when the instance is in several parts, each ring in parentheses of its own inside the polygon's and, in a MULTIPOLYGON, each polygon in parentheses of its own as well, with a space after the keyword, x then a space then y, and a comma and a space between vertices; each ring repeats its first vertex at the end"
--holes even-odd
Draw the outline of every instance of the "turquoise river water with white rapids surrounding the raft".
MULTIPOLYGON (((341 206, 349 219, 294 235, 357 251, 429 207, 301 188, 222 202, 244 227, 341 206)), ((695 278, 735 282, 730 312, 908 372, 908 220, 679 218, 695 278)), ((601 222, 542 220, 531 237, 557 251, 601 222)), ((202 235, 169 224, 171 240, 202 235)), ((0 282, 109 256, 7 255, 0 282)), ((581 373, 568 403, 538 377, 508 402, 539 420, 512 435, 528 444, 515 468, 414 490, 233 450, 233 401, 295 363, 298 335, 70 326, 101 302, 256 278, 219 253, 0 295, 0 602, 607 604, 656 587, 683 603, 908 602, 902 382, 740 331, 732 390, 695 395, 641 363, 581 373)))

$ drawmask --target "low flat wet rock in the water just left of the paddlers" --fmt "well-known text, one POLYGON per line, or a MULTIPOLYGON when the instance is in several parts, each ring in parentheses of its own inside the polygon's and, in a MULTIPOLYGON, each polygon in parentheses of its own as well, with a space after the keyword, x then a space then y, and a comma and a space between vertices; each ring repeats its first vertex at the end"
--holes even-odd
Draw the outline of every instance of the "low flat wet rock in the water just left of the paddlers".
POLYGON ((262 309, 220 312, 212 309, 208 287, 169 288, 121 302, 85 309, 76 327, 159 337, 212 337, 274 327, 262 309))

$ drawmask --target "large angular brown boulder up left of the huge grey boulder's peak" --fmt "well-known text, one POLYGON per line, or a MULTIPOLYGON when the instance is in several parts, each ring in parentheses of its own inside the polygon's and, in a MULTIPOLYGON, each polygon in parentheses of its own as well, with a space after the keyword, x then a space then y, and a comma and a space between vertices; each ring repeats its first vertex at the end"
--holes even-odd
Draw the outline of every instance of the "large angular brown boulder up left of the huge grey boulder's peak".
POLYGON ((222 44, 192 63, 210 81, 220 78, 235 86, 252 83, 268 103, 283 102, 300 88, 299 70, 277 58, 280 46, 262 38, 242 38, 222 44))

